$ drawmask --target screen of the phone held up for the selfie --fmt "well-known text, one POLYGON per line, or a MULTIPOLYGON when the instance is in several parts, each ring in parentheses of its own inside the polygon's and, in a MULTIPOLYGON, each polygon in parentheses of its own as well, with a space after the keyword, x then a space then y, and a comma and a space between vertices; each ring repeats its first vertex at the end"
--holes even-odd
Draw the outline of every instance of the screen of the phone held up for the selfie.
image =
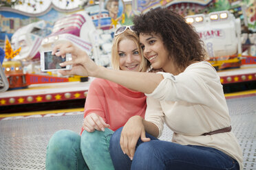
POLYGON ((45 70, 65 69, 66 66, 60 66, 60 63, 65 61, 66 58, 52 55, 52 51, 45 52, 45 70))

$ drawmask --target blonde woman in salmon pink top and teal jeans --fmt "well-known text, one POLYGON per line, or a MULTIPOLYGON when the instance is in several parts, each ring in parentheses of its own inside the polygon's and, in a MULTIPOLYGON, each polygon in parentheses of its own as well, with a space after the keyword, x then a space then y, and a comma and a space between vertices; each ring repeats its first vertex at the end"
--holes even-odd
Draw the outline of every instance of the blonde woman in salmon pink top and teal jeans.
MULTIPOLYGON (((120 27, 116 30, 111 63, 115 70, 147 71, 138 35, 120 27)), ((114 169, 110 154, 111 135, 132 116, 144 118, 144 93, 103 79, 89 86, 81 135, 60 130, 47 145, 46 169, 114 169)))

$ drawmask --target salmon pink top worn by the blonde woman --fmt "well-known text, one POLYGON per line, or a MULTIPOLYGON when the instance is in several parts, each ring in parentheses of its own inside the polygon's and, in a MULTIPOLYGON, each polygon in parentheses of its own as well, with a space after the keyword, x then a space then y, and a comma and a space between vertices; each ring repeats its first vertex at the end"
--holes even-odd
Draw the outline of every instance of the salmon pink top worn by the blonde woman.
MULTIPOLYGON (((125 125, 130 117, 139 115, 144 118, 146 108, 144 93, 129 90, 108 80, 95 78, 89 86, 84 117, 94 112, 103 117, 104 121, 110 125, 109 128, 115 131, 125 125)), ((82 132, 83 130, 82 127, 82 132)))

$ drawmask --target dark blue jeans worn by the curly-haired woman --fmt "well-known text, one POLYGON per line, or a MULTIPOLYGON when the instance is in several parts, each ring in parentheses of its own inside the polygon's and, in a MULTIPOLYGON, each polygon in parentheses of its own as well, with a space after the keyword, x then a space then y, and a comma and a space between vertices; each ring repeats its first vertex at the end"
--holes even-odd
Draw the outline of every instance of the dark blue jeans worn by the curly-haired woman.
POLYGON ((236 160, 212 147, 180 145, 160 141, 146 133, 151 141, 138 140, 134 159, 123 154, 120 148, 122 127, 111 136, 110 155, 114 167, 118 169, 171 169, 171 170, 238 170, 236 160))

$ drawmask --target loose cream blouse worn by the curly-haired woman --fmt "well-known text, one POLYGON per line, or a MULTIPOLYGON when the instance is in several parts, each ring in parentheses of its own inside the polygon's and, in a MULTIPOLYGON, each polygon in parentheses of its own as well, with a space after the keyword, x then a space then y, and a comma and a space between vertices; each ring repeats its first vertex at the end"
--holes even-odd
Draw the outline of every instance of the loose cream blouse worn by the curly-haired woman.
POLYGON ((233 132, 201 136, 231 125, 228 106, 217 72, 209 62, 189 65, 183 73, 158 72, 164 79, 147 95, 145 120, 162 134, 164 122, 174 132, 172 142, 214 147, 243 169, 242 150, 233 132))

